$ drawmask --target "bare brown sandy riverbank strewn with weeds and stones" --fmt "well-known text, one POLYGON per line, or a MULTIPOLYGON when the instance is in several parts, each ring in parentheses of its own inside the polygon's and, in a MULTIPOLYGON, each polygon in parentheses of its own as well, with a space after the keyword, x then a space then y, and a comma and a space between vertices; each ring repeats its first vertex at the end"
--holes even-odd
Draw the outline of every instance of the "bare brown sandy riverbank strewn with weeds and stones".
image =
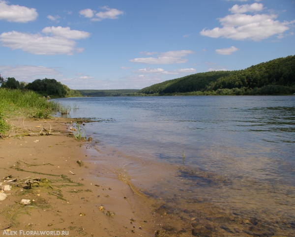
POLYGON ((76 141, 69 135, 69 122, 63 118, 10 121, 13 131, 0 139, 0 183, 10 187, 0 201, 1 232, 153 236, 157 225, 149 214, 149 200, 91 156, 94 140, 76 141), (25 136, 39 135, 40 130, 53 134, 25 136), (32 188, 30 181, 37 181, 32 188), (30 201, 24 205, 23 199, 30 201))

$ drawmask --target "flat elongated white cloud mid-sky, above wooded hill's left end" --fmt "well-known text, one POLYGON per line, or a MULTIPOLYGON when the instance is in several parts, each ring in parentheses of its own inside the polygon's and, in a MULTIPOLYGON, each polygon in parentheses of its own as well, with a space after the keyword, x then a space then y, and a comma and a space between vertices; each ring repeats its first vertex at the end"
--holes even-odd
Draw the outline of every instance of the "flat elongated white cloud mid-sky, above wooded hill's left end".
MULTIPOLYGON (((149 52, 143 52, 146 55, 149 55, 149 52)), ((130 59, 130 62, 137 63, 148 63, 148 64, 174 64, 174 63, 184 63, 187 62, 188 59, 183 59, 189 54, 194 54, 194 51, 191 50, 179 50, 179 51, 168 51, 164 53, 156 53, 152 52, 152 54, 158 54, 158 58, 136 58, 130 59)))

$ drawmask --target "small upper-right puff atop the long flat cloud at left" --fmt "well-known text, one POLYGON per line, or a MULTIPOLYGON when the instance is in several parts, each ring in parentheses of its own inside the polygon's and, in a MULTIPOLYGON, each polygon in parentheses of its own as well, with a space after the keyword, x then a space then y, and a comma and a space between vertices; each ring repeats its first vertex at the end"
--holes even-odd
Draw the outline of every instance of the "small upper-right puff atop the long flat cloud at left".
POLYGON ((66 39, 85 39, 90 36, 89 32, 71 30, 69 27, 46 27, 42 30, 42 32, 66 39))

